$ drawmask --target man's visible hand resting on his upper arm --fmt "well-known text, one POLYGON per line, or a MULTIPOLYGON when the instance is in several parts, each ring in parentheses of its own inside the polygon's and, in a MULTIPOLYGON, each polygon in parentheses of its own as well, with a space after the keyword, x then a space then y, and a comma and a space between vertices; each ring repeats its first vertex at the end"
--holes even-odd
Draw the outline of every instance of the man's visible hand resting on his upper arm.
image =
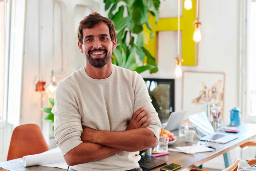
POLYGON ((150 123, 151 119, 149 117, 151 116, 148 114, 148 110, 145 110, 145 108, 140 108, 137 110, 130 120, 126 130, 130 129, 136 129, 136 128, 146 128, 150 123))

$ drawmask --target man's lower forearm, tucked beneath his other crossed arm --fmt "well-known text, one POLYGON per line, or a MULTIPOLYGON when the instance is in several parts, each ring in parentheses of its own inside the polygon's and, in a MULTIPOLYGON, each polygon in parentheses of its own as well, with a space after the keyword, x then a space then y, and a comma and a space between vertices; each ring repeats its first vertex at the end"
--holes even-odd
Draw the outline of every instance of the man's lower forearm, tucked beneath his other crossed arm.
POLYGON ((69 166, 105 159, 120 150, 101 144, 81 143, 64 155, 69 166))

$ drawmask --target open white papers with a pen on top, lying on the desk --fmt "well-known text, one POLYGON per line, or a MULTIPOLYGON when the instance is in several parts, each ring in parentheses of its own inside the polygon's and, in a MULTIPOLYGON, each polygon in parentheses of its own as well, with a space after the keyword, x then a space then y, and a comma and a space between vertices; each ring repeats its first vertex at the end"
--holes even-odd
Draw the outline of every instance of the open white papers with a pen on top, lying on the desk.
POLYGON ((195 145, 191 148, 192 146, 184 146, 184 147, 175 147, 176 149, 169 148, 169 151, 175 151, 175 152, 184 152, 187 154, 195 154, 199 152, 212 152, 212 148, 205 147, 203 145, 195 145), (191 148, 191 149, 190 149, 191 148))

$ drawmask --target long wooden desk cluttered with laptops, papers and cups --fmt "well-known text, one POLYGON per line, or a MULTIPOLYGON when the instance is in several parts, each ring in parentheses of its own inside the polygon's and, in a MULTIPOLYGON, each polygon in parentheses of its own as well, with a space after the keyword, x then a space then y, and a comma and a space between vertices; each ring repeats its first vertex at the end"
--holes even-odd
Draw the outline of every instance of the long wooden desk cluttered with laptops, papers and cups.
MULTIPOLYGON (((210 159, 213 159, 216 156, 219 156, 221 154, 229 152, 231 149, 256 138, 256 124, 243 123, 243 124, 241 124, 241 126, 239 126, 239 129, 241 131, 237 134, 230 133, 232 135, 237 135, 238 136, 237 139, 235 139, 227 144, 218 144, 216 151, 203 152, 203 153, 197 153, 197 154, 185 154, 185 153, 180 153, 180 152, 170 152, 170 155, 161 156, 161 157, 158 157, 158 159, 163 159, 163 160, 168 161, 167 164, 176 163, 176 164, 182 165, 182 168, 177 171, 189 171, 192 168, 200 166, 204 162, 206 162, 210 159)), ((174 133, 177 133, 177 132, 174 132, 174 133)), ((193 144, 193 143, 185 143, 184 139, 185 139, 184 137, 179 137, 178 140, 176 141, 176 143, 169 147, 174 148, 175 146, 187 146, 187 145, 193 144)), ((200 144, 200 142, 198 142, 198 139, 195 139, 194 143, 196 143, 198 145, 200 144)), ((202 144, 204 144, 204 142, 202 142, 202 144)), ((19 160, 21 160, 21 158, 0 163, 0 171, 6 171, 6 170, 12 170, 12 171, 19 171, 19 170, 64 171, 64 169, 54 168, 54 167, 44 167, 44 166, 23 167, 22 163, 18 162, 19 160)), ((164 167, 164 166, 165 165, 162 165, 160 167, 156 167, 151 170, 159 171, 160 168, 164 167)))

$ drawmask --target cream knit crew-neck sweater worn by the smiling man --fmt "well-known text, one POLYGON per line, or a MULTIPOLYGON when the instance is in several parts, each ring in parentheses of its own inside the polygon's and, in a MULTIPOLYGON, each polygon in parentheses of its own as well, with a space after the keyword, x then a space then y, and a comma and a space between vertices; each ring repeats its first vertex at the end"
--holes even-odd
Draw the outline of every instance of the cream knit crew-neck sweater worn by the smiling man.
MULTIPOLYGON (((137 72, 112 65, 106 79, 93 79, 84 67, 59 82, 55 91, 54 129, 56 144, 65 155, 81 141, 82 125, 96 130, 124 131, 141 107, 151 114, 147 127, 159 139, 161 123, 144 80, 137 72)), ((134 142, 136 145, 136 142, 134 142)), ((75 170, 124 171, 139 167, 139 152, 118 152, 95 162, 72 166, 75 170)))

